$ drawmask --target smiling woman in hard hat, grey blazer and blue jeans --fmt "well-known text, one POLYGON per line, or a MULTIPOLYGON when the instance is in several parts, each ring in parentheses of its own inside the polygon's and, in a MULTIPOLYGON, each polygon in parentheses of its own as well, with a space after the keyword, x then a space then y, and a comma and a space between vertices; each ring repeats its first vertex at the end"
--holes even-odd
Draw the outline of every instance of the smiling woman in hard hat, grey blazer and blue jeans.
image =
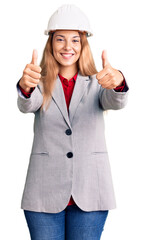
POLYGON ((74 5, 52 15, 46 34, 40 66, 34 50, 17 84, 20 111, 35 114, 21 208, 32 240, 100 239, 116 207, 103 112, 123 108, 128 87, 105 51, 97 72, 88 19, 74 5))

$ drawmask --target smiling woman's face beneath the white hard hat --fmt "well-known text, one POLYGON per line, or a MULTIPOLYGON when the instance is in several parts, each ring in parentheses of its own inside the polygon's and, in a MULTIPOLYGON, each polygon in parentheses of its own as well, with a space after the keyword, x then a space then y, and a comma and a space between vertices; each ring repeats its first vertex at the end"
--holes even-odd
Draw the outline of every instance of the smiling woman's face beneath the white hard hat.
POLYGON ((53 36, 53 55, 63 67, 75 66, 80 57, 81 40, 78 31, 57 30, 53 36))

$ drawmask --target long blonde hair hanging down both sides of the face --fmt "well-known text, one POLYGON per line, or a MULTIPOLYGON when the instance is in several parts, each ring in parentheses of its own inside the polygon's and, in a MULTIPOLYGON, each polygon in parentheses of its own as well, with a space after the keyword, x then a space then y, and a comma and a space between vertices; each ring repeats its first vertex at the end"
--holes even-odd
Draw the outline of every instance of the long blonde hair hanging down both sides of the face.
MULTIPOLYGON (((41 82, 43 85, 43 105, 42 107, 48 107, 52 91, 55 86, 56 78, 59 73, 59 65, 53 56, 52 40, 54 33, 50 33, 48 41, 43 51, 42 60, 40 67, 41 72, 41 82)), ((80 33, 81 38, 81 54, 78 60, 78 70, 83 76, 90 76, 97 73, 93 56, 90 50, 90 46, 85 33, 80 33)))

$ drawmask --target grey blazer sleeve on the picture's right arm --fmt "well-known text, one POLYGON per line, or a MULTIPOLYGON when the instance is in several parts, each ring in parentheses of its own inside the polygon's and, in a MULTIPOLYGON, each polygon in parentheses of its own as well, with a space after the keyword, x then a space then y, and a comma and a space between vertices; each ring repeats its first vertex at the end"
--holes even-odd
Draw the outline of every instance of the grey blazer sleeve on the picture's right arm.
POLYGON ((100 87, 99 101, 104 110, 118 110, 125 107, 128 100, 129 87, 126 83, 125 92, 116 92, 114 89, 105 89, 100 87))

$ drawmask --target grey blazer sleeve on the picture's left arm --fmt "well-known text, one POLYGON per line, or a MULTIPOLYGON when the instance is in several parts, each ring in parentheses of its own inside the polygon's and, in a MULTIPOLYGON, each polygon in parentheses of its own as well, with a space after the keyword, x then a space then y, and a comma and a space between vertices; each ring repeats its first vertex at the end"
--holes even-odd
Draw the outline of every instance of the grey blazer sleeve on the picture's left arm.
POLYGON ((25 98, 18 89, 17 92, 17 105, 21 112, 34 113, 42 106, 43 95, 39 85, 31 93, 30 98, 25 98))

